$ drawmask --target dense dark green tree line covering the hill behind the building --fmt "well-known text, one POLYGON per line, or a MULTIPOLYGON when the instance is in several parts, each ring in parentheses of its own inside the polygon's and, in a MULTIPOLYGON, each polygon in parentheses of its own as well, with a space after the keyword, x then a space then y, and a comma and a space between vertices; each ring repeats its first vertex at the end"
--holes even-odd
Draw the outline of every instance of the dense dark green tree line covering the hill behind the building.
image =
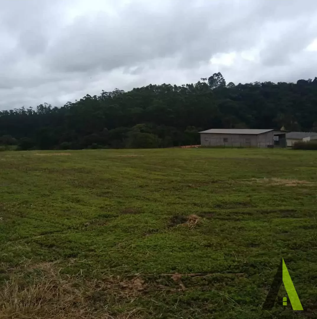
POLYGON ((0 145, 18 149, 148 148, 199 144, 199 130, 317 131, 317 78, 297 83, 226 84, 220 73, 196 84, 148 85, 129 92, 0 111, 0 145))

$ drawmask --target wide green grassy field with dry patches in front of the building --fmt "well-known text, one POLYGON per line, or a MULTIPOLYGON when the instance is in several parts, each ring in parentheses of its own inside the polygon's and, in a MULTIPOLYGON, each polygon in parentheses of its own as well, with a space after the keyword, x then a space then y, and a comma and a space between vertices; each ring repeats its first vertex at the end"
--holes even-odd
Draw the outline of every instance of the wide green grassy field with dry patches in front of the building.
POLYGON ((1 152, 0 319, 316 318, 316 156, 1 152), (263 314, 281 257, 305 311, 263 314))

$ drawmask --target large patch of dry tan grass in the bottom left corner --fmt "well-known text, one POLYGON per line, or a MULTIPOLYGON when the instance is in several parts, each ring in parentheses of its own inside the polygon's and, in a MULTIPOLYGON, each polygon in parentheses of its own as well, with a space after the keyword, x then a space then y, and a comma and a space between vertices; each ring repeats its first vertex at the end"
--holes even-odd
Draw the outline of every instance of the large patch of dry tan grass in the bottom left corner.
POLYGON ((140 278, 88 281, 60 274, 54 263, 29 265, 27 272, 11 271, 0 290, 1 319, 142 318, 140 309, 116 313, 108 308, 113 300, 118 309, 132 302, 145 285, 140 278))

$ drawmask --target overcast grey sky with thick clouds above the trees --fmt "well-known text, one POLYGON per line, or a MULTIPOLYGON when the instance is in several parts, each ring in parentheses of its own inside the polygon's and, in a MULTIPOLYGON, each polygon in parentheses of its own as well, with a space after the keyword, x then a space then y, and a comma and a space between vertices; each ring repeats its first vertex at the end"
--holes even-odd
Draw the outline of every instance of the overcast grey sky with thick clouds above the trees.
POLYGON ((0 110, 218 71, 317 76, 317 1, 0 0, 0 110))

